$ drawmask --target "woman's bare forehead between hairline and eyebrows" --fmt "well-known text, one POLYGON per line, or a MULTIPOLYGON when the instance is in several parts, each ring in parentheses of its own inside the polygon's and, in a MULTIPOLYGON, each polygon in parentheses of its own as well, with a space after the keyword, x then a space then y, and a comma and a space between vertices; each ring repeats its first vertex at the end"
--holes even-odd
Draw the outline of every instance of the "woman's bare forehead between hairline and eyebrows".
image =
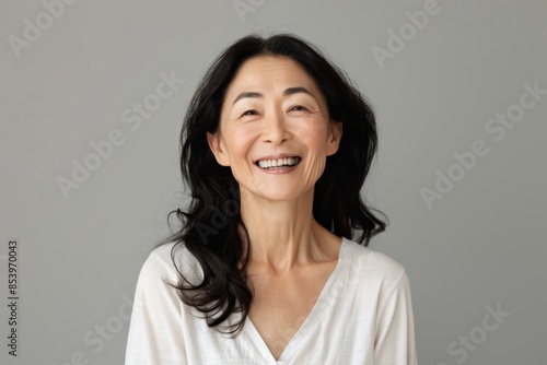
POLYGON ((304 86, 319 93, 315 80, 291 58, 260 56, 246 60, 240 67, 228 89, 228 94, 291 86, 304 86))

